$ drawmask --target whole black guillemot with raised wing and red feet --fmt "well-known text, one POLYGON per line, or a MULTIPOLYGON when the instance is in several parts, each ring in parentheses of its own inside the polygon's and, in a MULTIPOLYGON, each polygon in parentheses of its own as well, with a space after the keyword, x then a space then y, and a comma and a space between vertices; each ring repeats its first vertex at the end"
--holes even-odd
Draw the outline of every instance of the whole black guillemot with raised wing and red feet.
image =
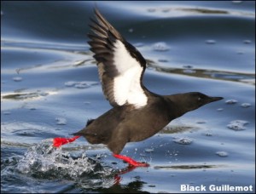
POLYGON ((98 9, 94 9, 94 13, 96 20, 90 19, 88 44, 94 53, 103 94, 113 108, 89 120, 84 128, 73 134, 76 135, 73 138, 56 138, 55 146, 83 136, 90 144, 107 145, 113 157, 133 167, 148 167, 148 163, 120 155, 126 143, 146 140, 173 119, 223 97, 200 92, 160 95, 149 91, 143 84, 147 66, 143 55, 98 9))

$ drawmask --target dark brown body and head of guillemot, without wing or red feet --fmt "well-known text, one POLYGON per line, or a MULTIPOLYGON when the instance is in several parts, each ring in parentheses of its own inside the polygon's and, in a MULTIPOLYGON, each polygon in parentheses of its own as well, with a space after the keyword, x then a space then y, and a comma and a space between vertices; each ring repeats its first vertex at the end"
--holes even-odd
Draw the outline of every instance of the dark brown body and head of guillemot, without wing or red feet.
POLYGON ((132 106, 118 106, 97 117, 75 135, 82 135, 90 144, 105 144, 109 150, 119 154, 127 142, 148 139, 166 127, 173 119, 192 111, 220 97, 208 97, 201 93, 149 96, 148 105, 141 109, 132 106), (184 96, 195 96, 187 106, 181 100, 184 96), (204 99, 198 100, 200 96, 204 99), (200 102, 201 101, 201 102, 200 102), (183 106, 184 105, 184 106, 183 106))

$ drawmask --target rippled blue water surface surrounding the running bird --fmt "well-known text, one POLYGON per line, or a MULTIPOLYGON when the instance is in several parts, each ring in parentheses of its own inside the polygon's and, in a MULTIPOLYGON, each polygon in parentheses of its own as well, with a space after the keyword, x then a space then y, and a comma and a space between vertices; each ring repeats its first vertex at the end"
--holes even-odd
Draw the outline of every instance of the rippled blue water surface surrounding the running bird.
POLYGON ((1 192, 182 192, 183 184, 255 192, 254 8, 1 1, 1 192), (151 91, 224 97, 125 146, 149 168, 127 168, 82 138, 51 146, 110 108, 86 43, 95 6, 148 60, 151 91))

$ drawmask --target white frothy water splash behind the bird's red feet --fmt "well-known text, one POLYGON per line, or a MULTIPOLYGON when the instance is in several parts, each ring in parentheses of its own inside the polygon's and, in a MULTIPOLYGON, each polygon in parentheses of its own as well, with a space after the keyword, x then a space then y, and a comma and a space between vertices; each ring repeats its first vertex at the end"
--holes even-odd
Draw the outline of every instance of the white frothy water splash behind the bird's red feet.
POLYGON ((61 148, 55 149, 49 141, 32 145, 17 163, 16 169, 21 174, 47 179, 77 180, 91 174, 104 176, 111 174, 109 168, 103 168, 95 159, 86 157, 85 153, 75 157, 61 148))

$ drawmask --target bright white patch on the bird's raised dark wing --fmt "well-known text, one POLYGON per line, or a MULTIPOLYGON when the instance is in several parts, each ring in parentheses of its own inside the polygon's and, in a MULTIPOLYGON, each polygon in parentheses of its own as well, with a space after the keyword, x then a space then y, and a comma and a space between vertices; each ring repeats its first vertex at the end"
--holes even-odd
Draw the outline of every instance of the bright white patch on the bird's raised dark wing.
POLYGON ((114 47, 113 64, 119 71, 119 76, 113 79, 114 100, 119 106, 126 102, 136 108, 146 106, 148 98, 140 82, 143 67, 131 57, 122 42, 116 40, 114 47))

